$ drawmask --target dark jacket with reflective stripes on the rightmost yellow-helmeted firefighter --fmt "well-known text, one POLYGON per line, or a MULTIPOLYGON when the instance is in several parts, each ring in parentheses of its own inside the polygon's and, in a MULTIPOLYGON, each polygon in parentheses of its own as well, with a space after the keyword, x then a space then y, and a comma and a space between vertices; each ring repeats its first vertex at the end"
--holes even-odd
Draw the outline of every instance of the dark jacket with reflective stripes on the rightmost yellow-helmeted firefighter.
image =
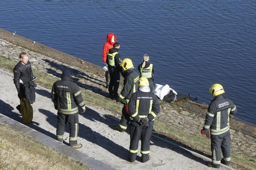
POLYGON ((236 112, 233 102, 220 94, 211 101, 203 128, 210 129, 212 135, 225 133, 229 130, 229 114, 236 112))

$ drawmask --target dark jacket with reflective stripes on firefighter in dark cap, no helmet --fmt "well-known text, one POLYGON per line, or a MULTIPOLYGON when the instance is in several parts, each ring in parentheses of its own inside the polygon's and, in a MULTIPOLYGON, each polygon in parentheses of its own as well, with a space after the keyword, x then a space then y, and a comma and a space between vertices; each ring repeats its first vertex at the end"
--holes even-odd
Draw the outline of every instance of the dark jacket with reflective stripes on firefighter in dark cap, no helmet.
POLYGON ((54 107, 58 108, 58 112, 62 114, 77 113, 77 105, 85 106, 79 86, 68 77, 62 77, 61 80, 54 82, 51 98, 54 107))

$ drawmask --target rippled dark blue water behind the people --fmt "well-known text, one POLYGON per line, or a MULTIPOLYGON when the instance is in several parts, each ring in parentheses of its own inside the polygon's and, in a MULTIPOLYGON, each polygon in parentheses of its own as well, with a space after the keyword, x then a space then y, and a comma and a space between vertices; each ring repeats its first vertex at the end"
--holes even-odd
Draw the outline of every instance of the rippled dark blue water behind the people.
POLYGON ((100 66, 113 32, 135 67, 149 54, 158 84, 206 104, 222 84, 236 116, 256 124, 255 0, 1 0, 0 28, 100 66))

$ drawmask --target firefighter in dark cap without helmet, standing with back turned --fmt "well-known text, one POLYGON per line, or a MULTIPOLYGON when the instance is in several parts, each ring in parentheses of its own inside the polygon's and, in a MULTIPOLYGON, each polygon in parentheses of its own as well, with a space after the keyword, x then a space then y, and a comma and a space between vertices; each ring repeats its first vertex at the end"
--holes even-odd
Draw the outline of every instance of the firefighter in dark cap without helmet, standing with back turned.
POLYGON ((82 147, 77 144, 77 134, 79 130, 78 108, 79 105, 85 112, 85 102, 79 86, 71 81, 70 71, 65 69, 62 72, 61 80, 54 82, 51 90, 51 98, 54 108, 58 110, 57 114, 57 140, 63 142, 66 123, 69 123, 69 146, 74 149, 82 147))

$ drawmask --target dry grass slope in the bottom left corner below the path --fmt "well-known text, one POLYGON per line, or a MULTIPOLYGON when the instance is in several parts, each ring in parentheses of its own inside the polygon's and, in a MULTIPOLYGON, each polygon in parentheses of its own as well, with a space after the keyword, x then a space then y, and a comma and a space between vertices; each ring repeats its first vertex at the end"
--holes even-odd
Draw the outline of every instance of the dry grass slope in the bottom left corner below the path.
POLYGON ((31 139, 28 135, 0 124, 1 169, 76 169, 89 170, 57 151, 31 139))

